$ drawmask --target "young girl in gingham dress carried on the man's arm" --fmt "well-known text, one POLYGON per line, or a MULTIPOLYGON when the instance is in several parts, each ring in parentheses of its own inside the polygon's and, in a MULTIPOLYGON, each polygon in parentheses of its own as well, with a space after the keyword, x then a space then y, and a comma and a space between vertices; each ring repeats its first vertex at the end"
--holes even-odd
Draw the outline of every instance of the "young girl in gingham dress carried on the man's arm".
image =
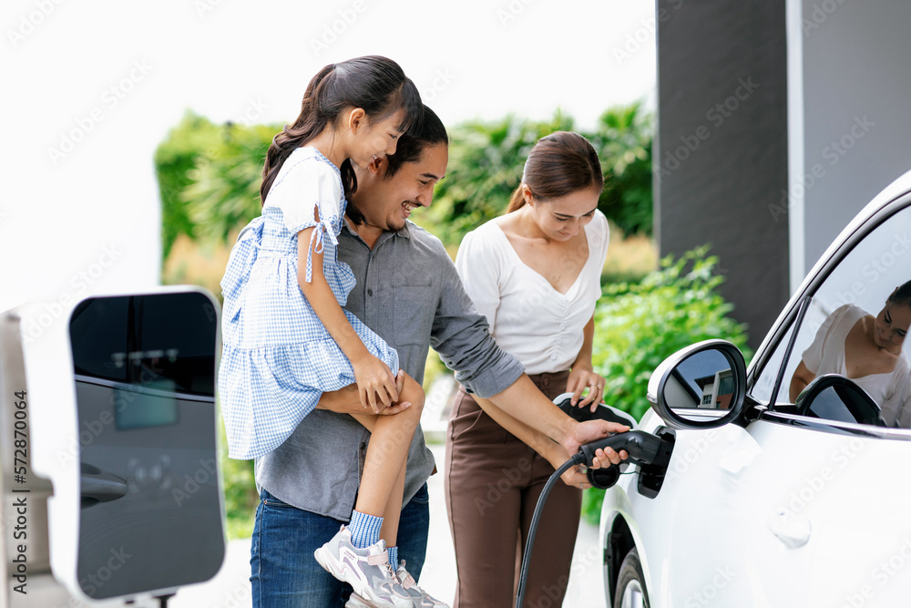
MULTIPOLYGON (((353 586, 349 606, 445 605, 416 587, 404 566, 395 572, 390 565, 397 565, 405 460, 424 393, 405 383, 404 372, 394 374, 394 349, 342 309, 354 276, 335 249, 346 199, 357 188, 353 166, 393 154, 422 113, 414 83, 390 59, 323 67, 298 119, 272 140, 262 215, 241 232, 221 281, 219 390, 231 458, 277 448, 323 392, 357 384, 364 414, 354 417, 372 433, 361 485, 350 527, 315 552, 323 568, 353 586), (378 416, 392 404, 397 413, 378 416)), ((353 209, 348 216, 361 219, 353 209)))

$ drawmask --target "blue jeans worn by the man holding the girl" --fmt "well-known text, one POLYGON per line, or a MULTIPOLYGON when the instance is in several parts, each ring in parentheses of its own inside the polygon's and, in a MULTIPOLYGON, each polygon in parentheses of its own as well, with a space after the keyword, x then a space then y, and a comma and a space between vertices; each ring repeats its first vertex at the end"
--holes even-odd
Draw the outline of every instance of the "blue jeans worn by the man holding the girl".
MULTIPOLYGON (((399 559, 415 581, 427 554, 429 499, 424 484, 399 520, 399 559)), ((263 489, 250 548, 253 608, 343 608, 351 586, 324 571, 313 557, 343 523, 292 507, 263 489)))

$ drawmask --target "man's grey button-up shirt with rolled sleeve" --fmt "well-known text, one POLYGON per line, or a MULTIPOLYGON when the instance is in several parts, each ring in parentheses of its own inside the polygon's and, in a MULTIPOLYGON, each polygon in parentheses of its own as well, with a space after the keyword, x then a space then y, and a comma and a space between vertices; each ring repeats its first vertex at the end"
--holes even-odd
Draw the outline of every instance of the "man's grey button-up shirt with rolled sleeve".
MULTIPOLYGON (((525 369, 500 350, 483 315, 465 293, 443 243, 407 222, 384 232, 371 250, 343 226, 339 260, 357 279, 345 308, 399 354, 399 365, 424 381, 428 347, 443 357, 466 389, 491 397, 512 385, 525 369)), ((256 460, 256 481, 298 509, 347 521, 361 479, 370 433, 353 417, 313 410, 279 448, 256 460)), ((434 469, 420 427, 408 451, 404 503, 434 469)))

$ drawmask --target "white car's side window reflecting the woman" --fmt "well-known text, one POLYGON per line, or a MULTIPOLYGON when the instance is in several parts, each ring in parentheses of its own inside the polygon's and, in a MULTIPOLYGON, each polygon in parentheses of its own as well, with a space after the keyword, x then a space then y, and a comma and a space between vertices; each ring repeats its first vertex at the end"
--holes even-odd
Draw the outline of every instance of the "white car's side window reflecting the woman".
MULTIPOLYGON (((796 328, 791 356, 783 362, 793 326, 757 377, 753 397, 765 402, 771 398, 782 365, 784 376, 777 404, 793 404, 808 381, 837 374, 853 379, 873 397, 889 426, 911 426, 911 372, 904 337, 893 324, 886 338, 883 322, 877 325, 875 321, 877 315, 883 315, 886 301, 896 288, 908 281, 911 208, 906 207, 866 234, 811 294, 804 321, 796 328), (887 356, 884 350, 897 352, 887 356)), ((906 319, 905 311, 911 311, 911 304, 902 306, 888 310, 906 319)), ((886 317, 890 316, 888 310, 886 317)))

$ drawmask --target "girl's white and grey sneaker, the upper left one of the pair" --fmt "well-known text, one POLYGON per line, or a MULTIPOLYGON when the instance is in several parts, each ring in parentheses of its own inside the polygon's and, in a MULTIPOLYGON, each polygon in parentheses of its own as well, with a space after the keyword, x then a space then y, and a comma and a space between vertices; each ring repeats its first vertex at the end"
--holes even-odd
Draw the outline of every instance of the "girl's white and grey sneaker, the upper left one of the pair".
POLYGON ((386 543, 379 541, 366 549, 351 543, 351 531, 342 526, 333 539, 313 551, 316 561, 339 581, 350 584, 354 593, 348 605, 369 608, 412 608, 415 603, 395 578, 389 565, 386 543))

